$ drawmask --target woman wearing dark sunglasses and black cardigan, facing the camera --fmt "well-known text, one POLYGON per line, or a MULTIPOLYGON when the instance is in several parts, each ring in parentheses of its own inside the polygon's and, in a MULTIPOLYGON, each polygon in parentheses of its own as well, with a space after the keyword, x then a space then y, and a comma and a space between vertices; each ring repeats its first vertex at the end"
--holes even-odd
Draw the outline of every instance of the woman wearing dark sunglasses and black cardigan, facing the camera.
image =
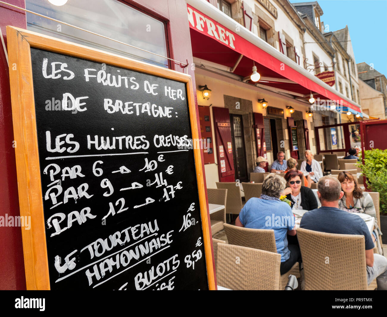
POLYGON ((292 209, 312 210, 318 207, 316 196, 312 189, 301 186, 301 171, 292 170, 285 174, 285 180, 288 183, 283 195, 291 201, 292 209))

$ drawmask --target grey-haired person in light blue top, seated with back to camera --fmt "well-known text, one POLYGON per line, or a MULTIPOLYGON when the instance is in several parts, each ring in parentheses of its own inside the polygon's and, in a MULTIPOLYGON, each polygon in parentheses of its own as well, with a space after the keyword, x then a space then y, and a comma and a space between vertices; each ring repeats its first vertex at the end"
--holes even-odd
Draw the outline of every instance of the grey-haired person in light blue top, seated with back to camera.
POLYGON ((260 198, 250 198, 235 221, 235 225, 240 227, 274 230, 277 253, 281 254, 281 275, 288 272, 296 262, 301 265, 300 248, 288 245, 286 236, 296 235, 296 230, 295 218, 289 204, 279 200, 285 185, 282 176, 270 173, 262 183, 260 198), (275 223, 272 223, 272 219, 276 219, 275 223))

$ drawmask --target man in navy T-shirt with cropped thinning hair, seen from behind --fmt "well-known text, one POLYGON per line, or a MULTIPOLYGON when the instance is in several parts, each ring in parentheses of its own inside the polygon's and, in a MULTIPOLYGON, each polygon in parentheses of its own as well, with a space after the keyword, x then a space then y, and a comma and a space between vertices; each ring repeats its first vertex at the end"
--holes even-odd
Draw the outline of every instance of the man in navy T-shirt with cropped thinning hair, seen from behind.
POLYGON ((301 219, 300 228, 344 235, 363 235, 368 284, 376 278, 378 290, 387 290, 387 259, 383 255, 373 254, 374 244, 364 220, 356 214, 339 209, 339 200, 344 195, 339 180, 324 176, 320 178, 317 188, 321 207, 306 212, 301 219))

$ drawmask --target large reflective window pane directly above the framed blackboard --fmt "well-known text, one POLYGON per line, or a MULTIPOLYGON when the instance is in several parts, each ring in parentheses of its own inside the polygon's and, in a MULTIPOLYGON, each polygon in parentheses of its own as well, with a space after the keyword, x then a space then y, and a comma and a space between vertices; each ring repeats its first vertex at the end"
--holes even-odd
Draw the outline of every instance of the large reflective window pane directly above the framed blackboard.
MULTIPOLYGON (((26 9, 144 50, 168 56, 164 22, 113 0, 69 1, 60 7, 48 1, 26 0, 26 9)), ((27 29, 99 50, 168 67, 164 57, 120 44, 74 27, 27 13, 27 29)))

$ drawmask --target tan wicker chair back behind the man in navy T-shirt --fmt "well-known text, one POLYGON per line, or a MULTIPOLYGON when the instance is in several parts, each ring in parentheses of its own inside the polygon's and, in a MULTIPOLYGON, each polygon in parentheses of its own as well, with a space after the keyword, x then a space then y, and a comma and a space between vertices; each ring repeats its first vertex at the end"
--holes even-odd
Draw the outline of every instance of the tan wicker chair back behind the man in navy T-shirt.
POLYGON ((361 235, 297 229, 305 290, 367 290, 365 242, 361 235))

